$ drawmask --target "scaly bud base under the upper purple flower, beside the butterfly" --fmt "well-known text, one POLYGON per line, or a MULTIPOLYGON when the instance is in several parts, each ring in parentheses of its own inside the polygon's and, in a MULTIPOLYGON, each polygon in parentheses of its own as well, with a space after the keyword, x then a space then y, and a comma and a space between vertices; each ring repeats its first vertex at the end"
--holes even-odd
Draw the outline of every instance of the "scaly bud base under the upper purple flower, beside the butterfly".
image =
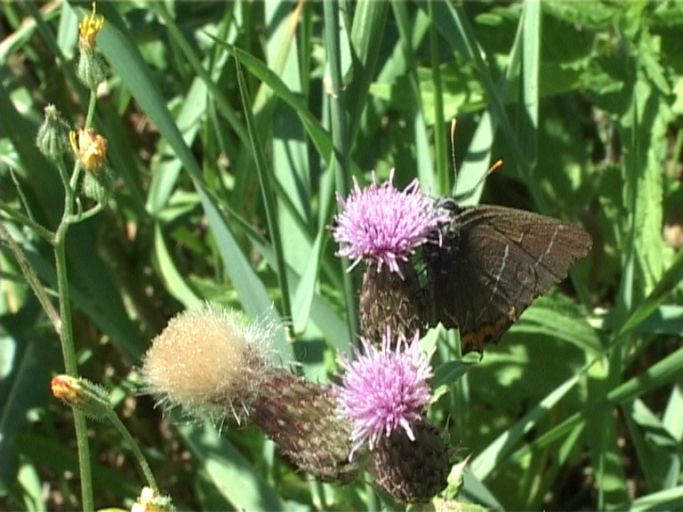
POLYGON ((400 274, 387 266, 369 265, 360 292, 360 334, 380 344, 387 328, 398 336, 412 336, 423 326, 420 284, 410 263, 399 263, 400 274), (403 277, 402 277, 403 276, 403 277))

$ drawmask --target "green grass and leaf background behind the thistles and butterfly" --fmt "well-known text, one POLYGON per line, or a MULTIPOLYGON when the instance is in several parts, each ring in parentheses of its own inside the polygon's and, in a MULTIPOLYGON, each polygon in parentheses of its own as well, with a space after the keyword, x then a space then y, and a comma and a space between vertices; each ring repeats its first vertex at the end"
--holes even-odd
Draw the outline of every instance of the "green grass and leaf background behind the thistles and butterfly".
MULTIPOLYGON (((472 455, 459 499, 683 508, 683 3, 327 7, 98 5, 111 75, 96 126, 117 180, 105 212, 69 234, 80 371, 112 390, 161 487, 183 509, 398 508, 370 485, 296 473, 251 427, 164 418, 136 371, 174 313, 208 300, 253 317, 274 301, 295 333, 282 360, 328 380, 353 339, 358 285, 328 243, 335 190, 395 167, 401 186, 475 187, 469 202, 580 223, 594 241, 481 360, 453 363, 454 333, 432 333, 431 416, 472 455), (504 170, 480 182, 498 158, 504 170)), ((89 8, 0 6, 0 200, 20 209, 11 169, 50 228, 61 186, 34 138, 47 103, 82 123, 74 70, 89 8)), ((49 247, 0 221, 54 287, 49 247)), ((59 342, 0 249, 0 504, 78 508, 71 414, 49 396, 59 342)), ((128 447, 106 424, 90 429, 97 506, 129 506, 142 480, 128 447)))

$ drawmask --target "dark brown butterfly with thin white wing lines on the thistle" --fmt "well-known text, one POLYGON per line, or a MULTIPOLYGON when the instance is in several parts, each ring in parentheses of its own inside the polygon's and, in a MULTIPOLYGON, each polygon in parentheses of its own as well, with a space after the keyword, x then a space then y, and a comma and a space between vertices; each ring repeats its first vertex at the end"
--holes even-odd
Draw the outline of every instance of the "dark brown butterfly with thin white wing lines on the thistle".
POLYGON ((498 341, 593 245, 582 228, 536 213, 450 198, 438 206, 450 222, 441 244, 424 249, 429 324, 457 327, 464 351, 498 341))

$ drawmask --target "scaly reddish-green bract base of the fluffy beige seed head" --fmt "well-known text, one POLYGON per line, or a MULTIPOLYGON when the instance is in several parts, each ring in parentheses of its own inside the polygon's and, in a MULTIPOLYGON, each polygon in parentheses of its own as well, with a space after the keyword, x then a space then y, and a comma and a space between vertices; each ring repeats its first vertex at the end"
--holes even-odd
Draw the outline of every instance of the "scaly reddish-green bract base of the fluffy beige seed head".
POLYGON ((348 482, 362 470, 353 448, 351 425, 337 414, 330 387, 285 370, 271 372, 250 419, 298 469, 329 482, 348 482))

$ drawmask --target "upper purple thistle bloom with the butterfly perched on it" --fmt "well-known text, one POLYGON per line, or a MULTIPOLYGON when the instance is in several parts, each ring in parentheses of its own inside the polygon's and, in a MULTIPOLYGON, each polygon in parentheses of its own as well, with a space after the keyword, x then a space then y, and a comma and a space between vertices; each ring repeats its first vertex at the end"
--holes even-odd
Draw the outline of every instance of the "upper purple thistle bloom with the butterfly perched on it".
POLYGON ((415 249, 430 240, 430 233, 448 221, 447 212, 420 191, 415 179, 400 192, 389 181, 361 189, 354 178, 353 190, 346 199, 338 197, 341 213, 335 217, 332 236, 339 243, 337 256, 353 260, 349 270, 363 258, 377 262, 378 270, 386 265, 403 277, 399 261, 408 261, 415 249))

